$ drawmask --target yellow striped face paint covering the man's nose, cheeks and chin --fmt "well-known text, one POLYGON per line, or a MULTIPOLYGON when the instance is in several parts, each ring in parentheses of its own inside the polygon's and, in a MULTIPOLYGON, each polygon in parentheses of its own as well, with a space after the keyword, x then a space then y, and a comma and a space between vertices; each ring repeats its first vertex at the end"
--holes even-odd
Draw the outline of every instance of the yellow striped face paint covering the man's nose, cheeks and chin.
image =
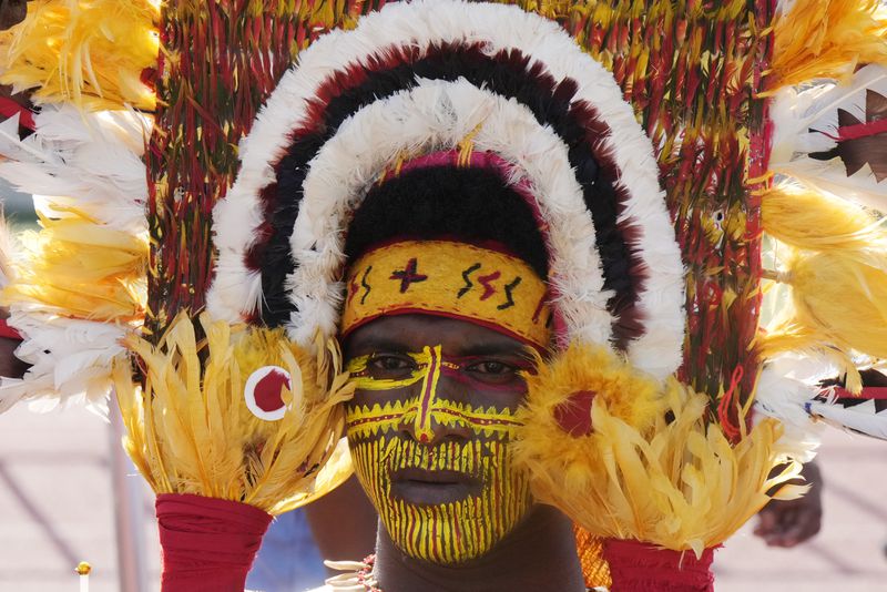
MULTIPOLYGON (((526 476, 511 463, 508 445, 519 425, 513 414, 508 408, 475 408, 440 397, 441 376, 470 387, 473 380, 463 370, 476 363, 445 358, 440 349, 427 347, 408 354, 414 369, 395 380, 370 376, 371 356, 351 360, 349 370, 357 389, 409 387, 409 396, 350 405, 346 422, 355 471, 391 540, 410 557, 452 564, 487 553, 520 522, 532 501, 526 476), (455 428, 471 437, 434 441, 437 430, 455 428), (429 474, 455 476, 445 480, 456 484, 429 486, 434 494, 451 499, 419 503, 400 494, 404 489, 399 488, 409 488, 410 479, 435 479, 429 474)), ((490 387, 485 385, 487 390, 490 387)), ((513 386, 500 388, 516 390, 513 386)))

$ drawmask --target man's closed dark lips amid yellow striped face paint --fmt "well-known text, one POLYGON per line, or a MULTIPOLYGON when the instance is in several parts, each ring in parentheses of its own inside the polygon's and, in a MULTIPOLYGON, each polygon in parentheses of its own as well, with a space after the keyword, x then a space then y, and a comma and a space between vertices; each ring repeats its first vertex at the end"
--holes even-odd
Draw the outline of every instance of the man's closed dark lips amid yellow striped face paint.
POLYGON ((480 481, 459 471, 398 469, 391 474, 391 494, 416 506, 439 506, 480 492, 480 481))

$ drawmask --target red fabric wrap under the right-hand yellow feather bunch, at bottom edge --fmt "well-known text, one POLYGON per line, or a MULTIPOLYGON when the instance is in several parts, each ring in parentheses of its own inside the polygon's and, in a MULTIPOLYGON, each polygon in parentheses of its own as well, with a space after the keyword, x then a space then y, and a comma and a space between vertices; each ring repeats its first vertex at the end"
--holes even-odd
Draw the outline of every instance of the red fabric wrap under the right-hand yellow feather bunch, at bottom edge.
POLYGON ((638 541, 608 539, 603 557, 610 564, 610 592, 714 592, 714 549, 701 559, 693 551, 657 549, 638 541))

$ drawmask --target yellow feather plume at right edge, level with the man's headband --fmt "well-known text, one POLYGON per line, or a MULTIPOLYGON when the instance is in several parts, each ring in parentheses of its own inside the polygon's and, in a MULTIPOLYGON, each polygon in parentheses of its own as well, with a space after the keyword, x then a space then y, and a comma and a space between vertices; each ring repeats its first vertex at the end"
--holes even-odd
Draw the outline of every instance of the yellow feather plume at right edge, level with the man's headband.
POLYGON ((887 356, 884 222, 850 202, 787 183, 763 195, 762 220, 778 239, 773 255, 782 269, 769 279, 789 289, 758 351, 765 359, 784 351, 825 356, 858 392, 856 358, 887 356))

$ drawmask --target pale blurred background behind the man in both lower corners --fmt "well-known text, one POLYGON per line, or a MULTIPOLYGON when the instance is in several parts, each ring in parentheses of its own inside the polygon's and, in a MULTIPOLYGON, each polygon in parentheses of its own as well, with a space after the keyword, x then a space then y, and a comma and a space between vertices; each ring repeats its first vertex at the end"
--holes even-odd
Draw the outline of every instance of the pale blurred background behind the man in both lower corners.
MULTIPOLYGON (((16 226, 34 225, 30 198, 4 185, 0 195, 16 226)), ((160 589, 153 496, 120 438, 79 407, 0 415, 0 592, 75 592, 80 561, 92 564, 91 592, 160 589)), ((768 548, 753 520, 715 557, 717 592, 887 590, 886 457, 884 442, 827 431, 819 534, 768 548)))

